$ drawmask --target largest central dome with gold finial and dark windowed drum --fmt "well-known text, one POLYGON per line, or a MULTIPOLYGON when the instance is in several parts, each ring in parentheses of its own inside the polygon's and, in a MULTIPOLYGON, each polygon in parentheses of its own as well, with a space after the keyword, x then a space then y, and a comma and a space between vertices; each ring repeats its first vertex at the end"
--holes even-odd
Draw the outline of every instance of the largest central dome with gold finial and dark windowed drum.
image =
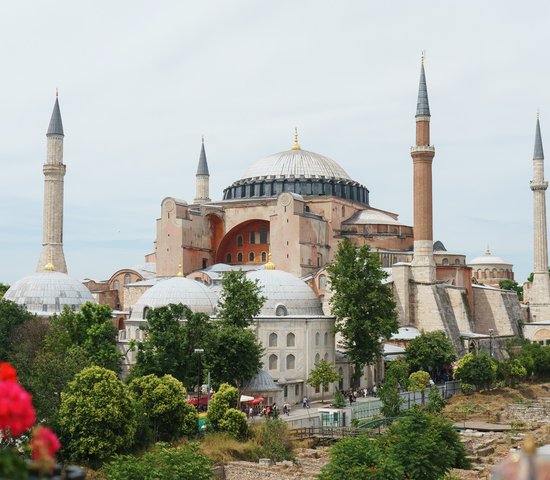
POLYGON ((276 197, 281 192, 302 196, 334 196, 364 205, 369 191, 353 180, 334 160, 302 150, 297 138, 290 150, 254 163, 223 192, 224 200, 276 197))

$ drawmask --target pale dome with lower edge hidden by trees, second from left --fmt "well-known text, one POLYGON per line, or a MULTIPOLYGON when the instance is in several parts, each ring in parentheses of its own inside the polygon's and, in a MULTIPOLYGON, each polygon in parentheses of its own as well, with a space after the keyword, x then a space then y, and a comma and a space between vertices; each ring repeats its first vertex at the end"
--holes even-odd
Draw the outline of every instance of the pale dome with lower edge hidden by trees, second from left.
POLYGON ((193 312, 214 313, 217 297, 200 282, 184 277, 170 277, 153 285, 132 308, 131 319, 143 320, 146 308, 183 303, 193 312))

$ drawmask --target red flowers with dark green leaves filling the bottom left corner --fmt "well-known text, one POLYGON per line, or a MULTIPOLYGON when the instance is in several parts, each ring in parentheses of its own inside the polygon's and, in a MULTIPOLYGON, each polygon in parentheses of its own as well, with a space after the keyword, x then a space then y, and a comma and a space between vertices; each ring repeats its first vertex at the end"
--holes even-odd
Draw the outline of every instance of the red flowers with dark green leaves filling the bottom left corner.
MULTIPOLYGON (((35 421, 32 398, 17 383, 17 372, 9 363, 0 362, 0 477, 26 478, 27 464, 14 445, 35 421)), ((41 474, 51 472, 60 447, 55 433, 47 427, 36 427, 30 441, 31 468, 41 474)))

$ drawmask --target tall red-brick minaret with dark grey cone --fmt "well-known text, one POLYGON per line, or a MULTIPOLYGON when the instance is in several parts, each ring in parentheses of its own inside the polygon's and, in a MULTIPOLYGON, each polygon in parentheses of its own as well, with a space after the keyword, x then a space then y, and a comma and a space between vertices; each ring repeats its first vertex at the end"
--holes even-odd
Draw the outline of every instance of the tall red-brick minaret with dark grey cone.
POLYGON ((434 155, 435 148, 430 145, 430 105, 422 54, 416 105, 416 146, 411 147, 414 165, 414 257, 411 266, 413 279, 422 283, 435 282, 432 215, 434 155))

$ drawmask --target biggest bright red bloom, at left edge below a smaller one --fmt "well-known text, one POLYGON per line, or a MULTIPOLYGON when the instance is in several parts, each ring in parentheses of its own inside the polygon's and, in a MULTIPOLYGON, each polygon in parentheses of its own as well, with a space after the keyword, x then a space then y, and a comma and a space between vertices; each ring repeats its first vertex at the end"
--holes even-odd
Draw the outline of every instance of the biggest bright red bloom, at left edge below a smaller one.
POLYGON ((0 433, 18 437, 31 428, 35 420, 29 393, 14 381, 0 381, 0 433))

